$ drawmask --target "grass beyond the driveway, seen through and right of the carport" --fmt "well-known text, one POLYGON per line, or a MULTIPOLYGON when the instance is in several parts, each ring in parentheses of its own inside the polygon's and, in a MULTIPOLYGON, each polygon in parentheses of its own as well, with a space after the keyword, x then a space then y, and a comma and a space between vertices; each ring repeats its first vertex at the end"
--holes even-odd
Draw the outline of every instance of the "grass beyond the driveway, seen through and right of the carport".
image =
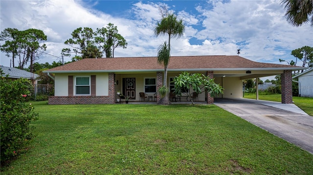
MULTIPOLYGON (((265 95, 260 93, 259 99, 261 100, 268 100, 268 101, 278 101, 281 102, 281 94, 271 94, 271 95, 265 95)), ((245 93, 245 98, 251 98, 255 99, 256 94, 249 94, 245 93)), ((297 105, 299 108, 301 108, 304 112, 309 114, 310 116, 313 116, 313 98, 310 97, 292 97, 292 100, 295 105, 297 105)))

